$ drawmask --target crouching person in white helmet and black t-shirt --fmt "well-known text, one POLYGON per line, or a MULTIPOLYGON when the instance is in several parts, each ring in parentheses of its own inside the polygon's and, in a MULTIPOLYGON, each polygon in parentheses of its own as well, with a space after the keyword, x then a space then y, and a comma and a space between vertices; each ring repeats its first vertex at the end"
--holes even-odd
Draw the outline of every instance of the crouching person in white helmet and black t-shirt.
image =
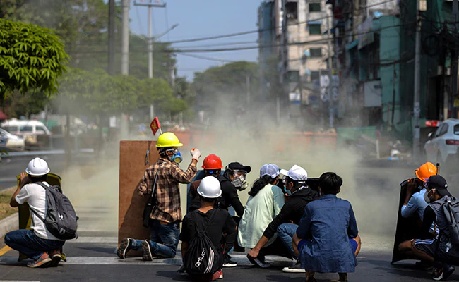
MULTIPOLYGON (((226 209, 214 208, 215 200, 222 195, 220 182, 217 178, 213 176, 203 178, 197 192, 201 198, 201 207, 189 212, 184 217, 179 236, 181 240, 181 257, 185 259, 193 238, 197 237, 198 233, 205 231, 221 257, 221 259, 218 259, 221 265, 219 265, 220 270, 213 274, 199 275, 199 280, 213 281, 217 278, 223 278, 221 269, 225 249, 222 247, 222 240, 224 234, 226 234, 225 243, 227 248, 231 248, 234 245, 237 235, 236 222, 226 209)), ((185 261, 184 265, 186 265, 185 261)), ((197 277, 195 278, 197 279, 197 277)))

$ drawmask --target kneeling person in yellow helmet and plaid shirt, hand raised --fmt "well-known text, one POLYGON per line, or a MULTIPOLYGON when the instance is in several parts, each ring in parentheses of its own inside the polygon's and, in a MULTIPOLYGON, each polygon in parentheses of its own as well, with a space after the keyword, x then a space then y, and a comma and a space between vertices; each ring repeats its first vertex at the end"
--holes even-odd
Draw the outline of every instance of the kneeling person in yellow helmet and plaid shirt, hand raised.
MULTIPOLYGON (((150 240, 124 238, 117 250, 121 259, 129 250, 143 252, 144 260, 153 257, 175 257, 179 244, 179 223, 182 219, 179 183, 188 184, 196 176, 199 157, 198 149, 191 149, 191 163, 186 171, 179 168, 182 161, 179 147, 183 144, 174 133, 163 133, 157 138, 156 147, 160 158, 145 170, 138 187, 140 195, 149 195, 153 209, 145 214, 144 225, 150 227, 150 240), (153 194, 153 195, 152 195, 153 194)), ((145 209, 146 211, 147 209, 145 209)), ((144 211, 144 213, 145 213, 144 211)))

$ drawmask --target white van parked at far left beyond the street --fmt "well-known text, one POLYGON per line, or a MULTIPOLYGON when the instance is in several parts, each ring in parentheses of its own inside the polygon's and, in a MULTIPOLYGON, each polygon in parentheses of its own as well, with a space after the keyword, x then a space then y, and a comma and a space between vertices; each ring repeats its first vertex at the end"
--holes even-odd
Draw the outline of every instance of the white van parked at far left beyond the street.
POLYGON ((1 123, 1 128, 7 130, 9 133, 18 135, 25 138, 27 145, 37 145, 37 137, 51 137, 51 132, 41 121, 18 120, 12 118, 11 120, 1 123), (44 136, 43 136, 44 135, 44 136))

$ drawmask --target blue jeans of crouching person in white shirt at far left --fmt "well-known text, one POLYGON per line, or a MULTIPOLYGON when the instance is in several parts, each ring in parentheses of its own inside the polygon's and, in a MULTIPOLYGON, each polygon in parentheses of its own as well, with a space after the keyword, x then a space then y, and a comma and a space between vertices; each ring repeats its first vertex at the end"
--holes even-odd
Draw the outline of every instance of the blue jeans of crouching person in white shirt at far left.
POLYGON ((60 249, 65 241, 42 239, 32 230, 20 229, 5 235, 5 244, 27 257, 37 260, 44 252, 60 249))

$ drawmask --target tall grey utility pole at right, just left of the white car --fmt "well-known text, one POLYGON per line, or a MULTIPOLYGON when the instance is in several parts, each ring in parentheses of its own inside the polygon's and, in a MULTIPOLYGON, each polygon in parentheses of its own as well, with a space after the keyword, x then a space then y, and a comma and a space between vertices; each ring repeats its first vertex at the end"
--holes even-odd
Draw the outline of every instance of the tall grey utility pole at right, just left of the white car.
POLYGON ((419 114, 421 112, 421 20, 419 17, 419 0, 416 1, 416 47, 415 47, 415 96, 413 99, 413 161, 419 159, 419 114))

